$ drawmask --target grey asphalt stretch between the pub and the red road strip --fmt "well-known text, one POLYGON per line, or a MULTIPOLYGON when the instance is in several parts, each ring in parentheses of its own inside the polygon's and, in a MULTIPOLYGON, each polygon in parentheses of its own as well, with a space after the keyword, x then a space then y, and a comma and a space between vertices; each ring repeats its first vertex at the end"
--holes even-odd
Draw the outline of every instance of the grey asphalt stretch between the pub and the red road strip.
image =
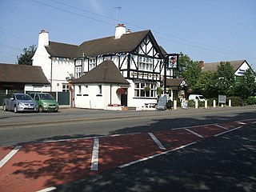
POLYGON ((169 130, 256 118, 255 106, 165 111, 62 109, 14 114, 0 110, 0 146, 61 138, 169 130))

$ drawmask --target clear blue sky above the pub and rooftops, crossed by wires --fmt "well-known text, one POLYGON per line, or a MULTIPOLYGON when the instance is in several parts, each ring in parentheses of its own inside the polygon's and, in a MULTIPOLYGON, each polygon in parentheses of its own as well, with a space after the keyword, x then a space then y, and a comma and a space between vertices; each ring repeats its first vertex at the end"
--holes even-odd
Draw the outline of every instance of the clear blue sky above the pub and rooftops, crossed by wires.
POLYGON ((255 0, 0 0, 0 63, 50 41, 80 45, 114 35, 117 23, 151 30, 167 53, 192 60, 244 60, 256 69, 255 0))

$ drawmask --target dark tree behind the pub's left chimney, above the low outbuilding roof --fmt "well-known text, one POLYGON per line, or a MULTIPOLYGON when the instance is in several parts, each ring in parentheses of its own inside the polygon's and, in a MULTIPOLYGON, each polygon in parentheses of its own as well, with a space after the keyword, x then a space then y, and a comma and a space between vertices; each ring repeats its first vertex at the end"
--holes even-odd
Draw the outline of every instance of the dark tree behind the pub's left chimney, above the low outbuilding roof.
POLYGON ((29 48, 24 48, 23 54, 20 54, 20 56, 17 56, 18 59, 18 65, 27 65, 32 66, 32 58, 34 56, 36 46, 32 45, 29 48))

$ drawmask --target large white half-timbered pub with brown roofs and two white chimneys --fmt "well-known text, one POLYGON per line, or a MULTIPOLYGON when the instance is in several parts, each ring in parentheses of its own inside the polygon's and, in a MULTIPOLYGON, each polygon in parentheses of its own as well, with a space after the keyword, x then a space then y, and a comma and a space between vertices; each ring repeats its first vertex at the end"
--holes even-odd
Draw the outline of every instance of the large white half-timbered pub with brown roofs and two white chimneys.
POLYGON ((114 36, 82 42, 79 46, 51 42, 49 34, 42 30, 33 66, 42 67, 50 82, 48 91, 74 89, 74 106, 97 109, 104 109, 110 103, 143 106, 157 102, 156 90, 162 78, 164 75, 171 78, 173 74, 166 72, 165 54, 150 30, 131 32, 123 24, 116 26, 114 36), (100 70, 105 71, 108 78, 102 78, 105 72, 100 70), (113 70, 112 76, 116 76, 113 82, 110 70, 113 70), (120 74, 126 81, 119 82, 120 74), (70 80, 74 83, 72 89, 70 80), (125 94, 114 95, 118 88, 123 88, 125 94), (100 90, 102 96, 99 96, 100 90), (91 98, 92 95, 98 96, 91 98), (97 105, 91 105, 92 102, 97 105))

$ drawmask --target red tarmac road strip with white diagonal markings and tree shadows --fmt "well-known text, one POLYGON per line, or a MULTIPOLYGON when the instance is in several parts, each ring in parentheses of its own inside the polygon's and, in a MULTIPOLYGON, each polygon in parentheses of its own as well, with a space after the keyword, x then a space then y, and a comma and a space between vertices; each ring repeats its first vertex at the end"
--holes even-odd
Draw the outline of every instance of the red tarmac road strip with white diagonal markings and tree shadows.
POLYGON ((254 122, 256 119, 154 133, 0 147, 0 191, 30 192, 58 187, 104 170, 154 158, 254 122))

